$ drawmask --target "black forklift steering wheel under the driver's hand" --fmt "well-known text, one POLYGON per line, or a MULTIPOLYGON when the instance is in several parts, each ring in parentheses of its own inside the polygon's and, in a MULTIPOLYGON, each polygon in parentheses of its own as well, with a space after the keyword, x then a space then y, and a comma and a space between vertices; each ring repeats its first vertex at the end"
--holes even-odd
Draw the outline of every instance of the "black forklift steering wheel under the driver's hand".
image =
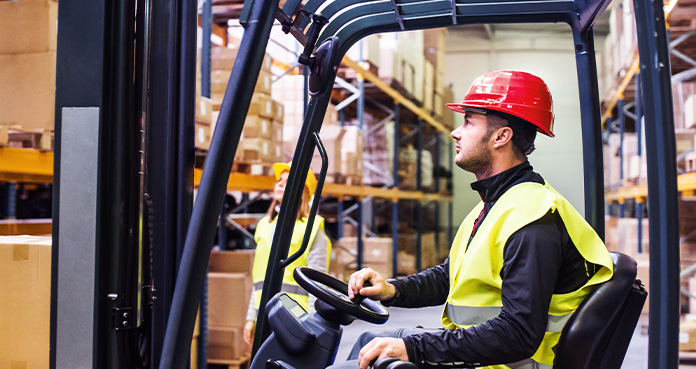
POLYGON ((297 267, 294 271, 295 282, 307 292, 326 302, 334 308, 364 321, 383 324, 389 319, 389 312, 377 301, 357 295, 348 297, 348 284, 318 270, 297 267))

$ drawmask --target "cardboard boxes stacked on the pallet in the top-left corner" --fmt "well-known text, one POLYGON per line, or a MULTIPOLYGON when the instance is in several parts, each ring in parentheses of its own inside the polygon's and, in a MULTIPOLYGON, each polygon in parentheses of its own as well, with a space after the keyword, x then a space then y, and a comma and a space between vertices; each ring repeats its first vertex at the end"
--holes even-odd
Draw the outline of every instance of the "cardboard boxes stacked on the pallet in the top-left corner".
POLYGON ((0 126, 53 131, 57 16, 55 1, 0 1, 0 126))

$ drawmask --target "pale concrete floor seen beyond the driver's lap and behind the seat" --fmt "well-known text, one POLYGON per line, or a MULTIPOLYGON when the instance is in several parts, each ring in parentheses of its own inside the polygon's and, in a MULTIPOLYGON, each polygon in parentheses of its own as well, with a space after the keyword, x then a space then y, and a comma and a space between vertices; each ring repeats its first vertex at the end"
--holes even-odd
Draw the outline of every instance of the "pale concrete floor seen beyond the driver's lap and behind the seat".
MULTIPOLYGON (((441 327, 440 315, 442 307, 430 307, 422 309, 390 308, 390 318, 383 326, 355 321, 343 328, 343 338, 336 355, 336 361, 344 361, 360 333, 380 328, 415 327, 421 325, 426 328, 441 327)), ((622 369, 647 369, 648 367, 648 317, 641 317, 628 347, 622 369)), ((680 365, 680 369, 696 368, 696 365, 680 365)))

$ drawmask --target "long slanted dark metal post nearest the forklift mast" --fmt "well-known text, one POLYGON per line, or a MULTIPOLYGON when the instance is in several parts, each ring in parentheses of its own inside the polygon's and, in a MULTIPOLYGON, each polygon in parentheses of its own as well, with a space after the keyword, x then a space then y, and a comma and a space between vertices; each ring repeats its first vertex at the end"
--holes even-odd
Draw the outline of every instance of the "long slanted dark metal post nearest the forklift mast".
POLYGON ((220 207, 279 0, 257 0, 222 101, 203 167, 169 312, 160 368, 185 368, 220 207))

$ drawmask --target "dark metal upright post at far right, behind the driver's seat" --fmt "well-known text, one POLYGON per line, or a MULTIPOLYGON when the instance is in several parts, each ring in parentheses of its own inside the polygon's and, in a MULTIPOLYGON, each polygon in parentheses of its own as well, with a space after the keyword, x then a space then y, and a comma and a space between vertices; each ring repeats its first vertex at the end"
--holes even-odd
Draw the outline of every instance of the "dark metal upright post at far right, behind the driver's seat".
POLYGON ((669 39, 661 2, 634 0, 648 161, 648 368, 679 365, 679 216, 669 39))

